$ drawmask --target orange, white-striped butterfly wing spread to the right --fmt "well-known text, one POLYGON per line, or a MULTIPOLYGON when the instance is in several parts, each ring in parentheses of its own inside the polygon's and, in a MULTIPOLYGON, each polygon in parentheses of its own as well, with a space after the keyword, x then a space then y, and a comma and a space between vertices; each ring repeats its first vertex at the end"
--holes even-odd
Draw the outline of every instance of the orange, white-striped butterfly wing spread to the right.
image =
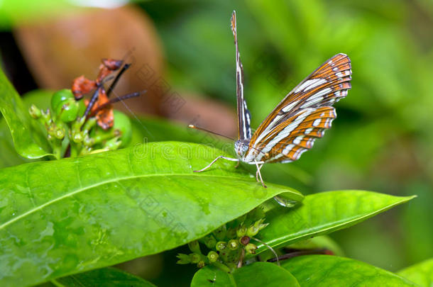
POLYGON ((331 107, 351 89, 351 62, 337 54, 324 62, 281 101, 263 120, 243 160, 291 162, 309 150, 336 118, 331 107))

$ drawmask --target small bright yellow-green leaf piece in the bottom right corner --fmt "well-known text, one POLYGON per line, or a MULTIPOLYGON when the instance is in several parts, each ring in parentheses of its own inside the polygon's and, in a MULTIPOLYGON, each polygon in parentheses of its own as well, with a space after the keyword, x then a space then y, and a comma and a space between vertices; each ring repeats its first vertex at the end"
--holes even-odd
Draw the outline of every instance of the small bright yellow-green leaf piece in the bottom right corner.
POLYGON ((433 258, 422 261, 397 272, 398 275, 422 287, 433 286, 433 258))

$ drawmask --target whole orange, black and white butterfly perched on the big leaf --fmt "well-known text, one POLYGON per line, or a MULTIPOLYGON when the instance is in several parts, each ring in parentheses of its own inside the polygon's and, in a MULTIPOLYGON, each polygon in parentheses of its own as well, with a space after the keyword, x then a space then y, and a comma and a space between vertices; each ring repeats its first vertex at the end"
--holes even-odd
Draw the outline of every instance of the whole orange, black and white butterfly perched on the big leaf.
POLYGON ((347 55, 340 53, 324 62, 295 86, 251 134, 251 116, 243 97, 243 67, 238 47, 236 11, 231 15, 231 31, 236 48, 239 136, 234 142, 234 150, 238 158, 221 155, 195 172, 209 169, 218 159, 255 164, 256 180, 266 187, 260 171, 263 164, 299 159, 302 153, 312 148, 317 138, 323 137, 325 130, 331 128, 332 120, 336 118, 332 105, 347 96, 347 91, 351 89, 351 61, 347 55))

